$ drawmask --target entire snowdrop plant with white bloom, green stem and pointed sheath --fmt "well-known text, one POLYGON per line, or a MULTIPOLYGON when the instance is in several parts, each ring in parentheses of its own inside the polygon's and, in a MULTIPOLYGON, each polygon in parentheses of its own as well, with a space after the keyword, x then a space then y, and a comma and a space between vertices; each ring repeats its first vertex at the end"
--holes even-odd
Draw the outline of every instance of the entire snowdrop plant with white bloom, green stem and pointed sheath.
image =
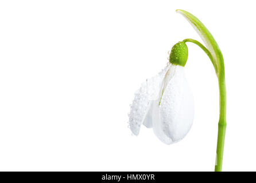
POLYGON ((205 46, 195 39, 184 39, 173 46, 169 65, 155 77, 147 79, 135 93, 129 114, 131 132, 139 134, 141 125, 153 128, 165 144, 183 139, 193 122, 193 97, 185 79, 184 66, 188 59, 186 42, 195 43, 210 58, 219 82, 219 123, 215 171, 222 171, 226 134, 226 81, 222 51, 210 31, 194 15, 176 10, 200 35, 205 46))

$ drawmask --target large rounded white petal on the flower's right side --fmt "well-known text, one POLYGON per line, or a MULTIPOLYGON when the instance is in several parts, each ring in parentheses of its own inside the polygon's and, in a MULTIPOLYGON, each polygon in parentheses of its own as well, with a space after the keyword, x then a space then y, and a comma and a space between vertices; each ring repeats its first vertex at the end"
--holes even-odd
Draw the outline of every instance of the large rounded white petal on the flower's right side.
POLYGON ((183 139, 191 129, 193 111, 193 96, 185 79, 184 67, 177 66, 160 103, 160 126, 172 142, 183 139))

